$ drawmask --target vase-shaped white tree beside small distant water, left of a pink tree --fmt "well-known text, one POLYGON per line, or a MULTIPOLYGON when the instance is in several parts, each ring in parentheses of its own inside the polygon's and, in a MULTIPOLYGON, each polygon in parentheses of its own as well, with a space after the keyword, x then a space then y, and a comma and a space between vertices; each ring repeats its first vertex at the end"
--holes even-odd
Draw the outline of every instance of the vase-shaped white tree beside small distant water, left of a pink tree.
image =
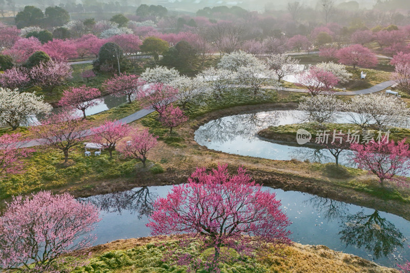
POLYGON ((285 76, 299 72, 299 60, 283 54, 270 55, 267 59, 267 65, 278 82, 285 76))

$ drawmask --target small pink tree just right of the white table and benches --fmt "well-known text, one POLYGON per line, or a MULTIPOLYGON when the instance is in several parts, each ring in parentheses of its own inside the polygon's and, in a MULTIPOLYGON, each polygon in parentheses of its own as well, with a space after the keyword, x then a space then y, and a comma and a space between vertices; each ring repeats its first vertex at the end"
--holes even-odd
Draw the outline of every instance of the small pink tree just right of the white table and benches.
POLYGON ((93 141, 104 146, 110 153, 112 158, 112 151, 114 151, 117 143, 128 135, 130 127, 126 123, 114 120, 106 120, 103 125, 91 129, 93 134, 93 141))

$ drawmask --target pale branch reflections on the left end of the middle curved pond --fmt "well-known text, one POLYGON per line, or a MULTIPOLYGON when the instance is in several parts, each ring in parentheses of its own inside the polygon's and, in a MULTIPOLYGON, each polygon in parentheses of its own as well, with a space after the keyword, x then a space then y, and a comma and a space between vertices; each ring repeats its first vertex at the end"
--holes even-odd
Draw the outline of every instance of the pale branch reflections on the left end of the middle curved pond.
POLYGON ((274 114, 261 112, 218 118, 200 127, 196 135, 201 139, 220 144, 232 141, 237 136, 251 140, 256 137, 258 131, 276 125, 283 116, 282 112, 276 111, 274 114))

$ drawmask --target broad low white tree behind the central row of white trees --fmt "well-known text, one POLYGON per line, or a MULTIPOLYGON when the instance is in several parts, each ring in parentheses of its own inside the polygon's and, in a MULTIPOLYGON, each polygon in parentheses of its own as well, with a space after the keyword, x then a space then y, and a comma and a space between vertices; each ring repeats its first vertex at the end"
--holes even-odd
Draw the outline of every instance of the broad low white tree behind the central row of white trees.
POLYGON ((223 55, 218 63, 218 68, 237 71, 239 67, 255 67, 261 64, 263 62, 254 55, 239 50, 223 55))

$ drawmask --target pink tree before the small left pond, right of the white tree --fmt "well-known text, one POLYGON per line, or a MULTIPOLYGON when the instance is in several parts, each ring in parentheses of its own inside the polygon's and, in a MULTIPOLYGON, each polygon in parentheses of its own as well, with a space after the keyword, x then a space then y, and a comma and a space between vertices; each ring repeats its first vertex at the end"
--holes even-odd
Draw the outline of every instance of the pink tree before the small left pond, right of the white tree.
POLYGON ((71 87, 63 92, 63 97, 58 101, 58 104, 63 107, 68 106, 81 110, 84 118, 86 118, 86 110, 101 102, 99 96, 101 96, 101 92, 98 88, 86 87, 85 85, 71 87))

